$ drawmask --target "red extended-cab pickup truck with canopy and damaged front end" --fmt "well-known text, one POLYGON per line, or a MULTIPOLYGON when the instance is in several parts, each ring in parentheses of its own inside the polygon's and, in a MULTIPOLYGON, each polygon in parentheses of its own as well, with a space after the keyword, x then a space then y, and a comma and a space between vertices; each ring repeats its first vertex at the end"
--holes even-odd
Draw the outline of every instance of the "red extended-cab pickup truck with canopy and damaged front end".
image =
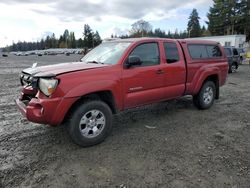
POLYGON ((32 122, 67 123, 81 146, 102 142, 113 114, 192 95, 199 109, 211 107, 228 73, 227 57, 216 42, 159 38, 104 42, 81 62, 22 71, 16 104, 32 122))

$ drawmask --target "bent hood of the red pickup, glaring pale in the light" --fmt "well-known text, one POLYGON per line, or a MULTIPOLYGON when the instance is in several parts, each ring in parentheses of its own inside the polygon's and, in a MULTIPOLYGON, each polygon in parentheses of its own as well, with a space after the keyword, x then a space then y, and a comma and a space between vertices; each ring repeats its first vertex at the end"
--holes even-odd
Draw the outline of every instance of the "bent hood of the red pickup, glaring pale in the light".
POLYGON ((48 65, 48 66, 41 66, 34 68, 31 67, 24 69, 22 72, 30 74, 35 77, 52 77, 67 72, 101 68, 106 66, 108 65, 84 63, 84 62, 72 62, 72 63, 60 63, 55 65, 48 65))

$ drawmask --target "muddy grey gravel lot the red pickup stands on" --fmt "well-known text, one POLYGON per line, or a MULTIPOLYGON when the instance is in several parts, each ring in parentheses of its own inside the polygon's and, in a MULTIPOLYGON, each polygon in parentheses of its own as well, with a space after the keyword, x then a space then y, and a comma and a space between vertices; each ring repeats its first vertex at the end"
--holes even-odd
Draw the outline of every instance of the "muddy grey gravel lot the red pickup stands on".
POLYGON ((250 66, 206 111, 190 97, 116 115, 100 145, 26 121, 14 99, 26 67, 79 56, 0 57, 0 187, 250 187, 250 66))

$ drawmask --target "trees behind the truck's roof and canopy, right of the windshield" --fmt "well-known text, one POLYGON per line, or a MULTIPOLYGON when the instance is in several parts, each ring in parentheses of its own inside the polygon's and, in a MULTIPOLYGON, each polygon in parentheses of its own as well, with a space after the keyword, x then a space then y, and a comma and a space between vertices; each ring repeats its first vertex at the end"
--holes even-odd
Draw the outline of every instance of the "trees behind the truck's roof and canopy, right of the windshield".
POLYGON ((187 23, 187 29, 182 32, 168 32, 161 29, 152 31, 150 23, 139 20, 132 24, 128 37, 167 37, 193 38, 203 36, 244 34, 250 40, 250 0, 213 0, 207 14, 207 27, 200 25, 197 9, 193 9, 187 23))

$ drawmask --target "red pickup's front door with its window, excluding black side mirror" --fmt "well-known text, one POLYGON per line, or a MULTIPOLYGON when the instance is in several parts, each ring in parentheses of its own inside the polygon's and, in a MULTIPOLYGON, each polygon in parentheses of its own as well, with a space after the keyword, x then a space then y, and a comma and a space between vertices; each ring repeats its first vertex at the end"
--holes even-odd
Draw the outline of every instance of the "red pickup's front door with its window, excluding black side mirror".
POLYGON ((162 71, 158 42, 140 43, 134 46, 124 62, 124 108, 152 103, 164 98, 164 72, 162 71), (138 56, 142 64, 127 68, 129 56, 138 56))

